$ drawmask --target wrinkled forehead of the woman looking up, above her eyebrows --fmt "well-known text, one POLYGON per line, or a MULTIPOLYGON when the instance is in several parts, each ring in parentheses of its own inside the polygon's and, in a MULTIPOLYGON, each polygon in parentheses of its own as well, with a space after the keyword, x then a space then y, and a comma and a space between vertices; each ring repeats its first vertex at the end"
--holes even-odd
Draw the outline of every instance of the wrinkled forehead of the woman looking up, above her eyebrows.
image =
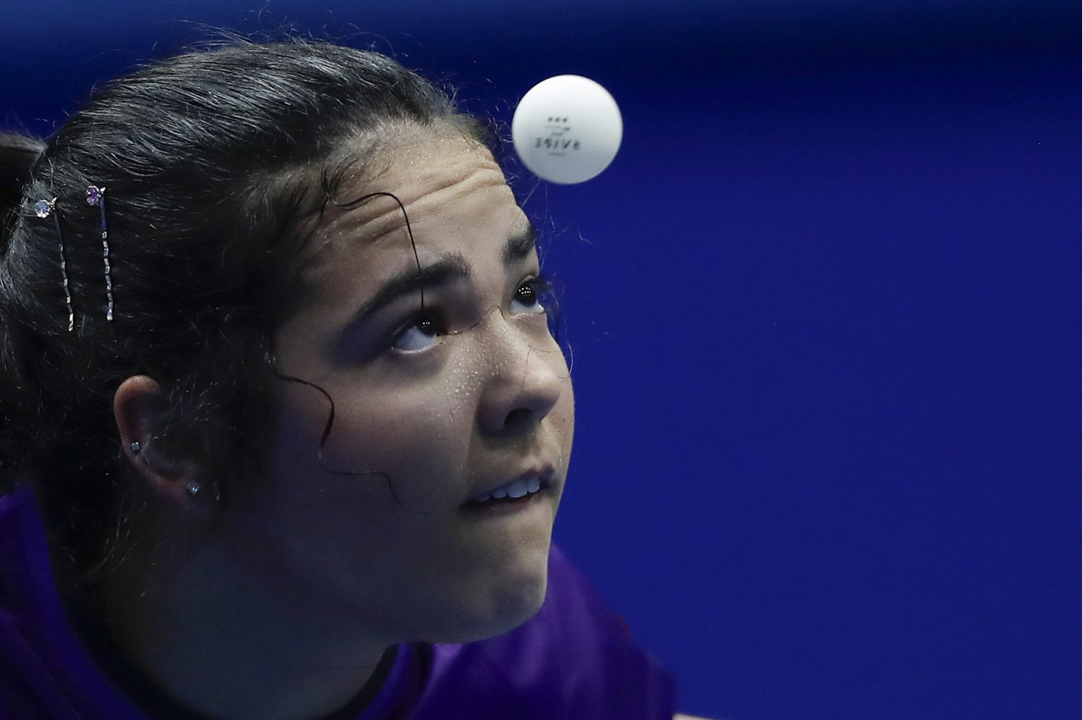
POLYGON ((419 265, 453 257, 472 269, 475 288, 504 287, 509 239, 530 228, 492 155, 462 136, 391 145, 347 173, 333 200, 312 231, 300 300, 279 328, 283 362, 289 348, 334 346, 367 302, 419 265))

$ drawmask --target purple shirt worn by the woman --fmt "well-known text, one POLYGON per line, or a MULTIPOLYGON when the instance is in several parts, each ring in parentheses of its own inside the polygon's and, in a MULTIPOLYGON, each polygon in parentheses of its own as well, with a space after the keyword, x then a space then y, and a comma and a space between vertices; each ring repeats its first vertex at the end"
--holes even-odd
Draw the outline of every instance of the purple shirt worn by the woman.
MULTIPOLYGON (((83 632, 82 637, 88 637, 83 632)), ((555 546, 549 592, 489 640, 390 649, 334 720, 671 720, 672 676, 555 546)), ((117 656, 95 662, 56 591, 34 495, 0 497, 0 720, 184 720, 117 656)))

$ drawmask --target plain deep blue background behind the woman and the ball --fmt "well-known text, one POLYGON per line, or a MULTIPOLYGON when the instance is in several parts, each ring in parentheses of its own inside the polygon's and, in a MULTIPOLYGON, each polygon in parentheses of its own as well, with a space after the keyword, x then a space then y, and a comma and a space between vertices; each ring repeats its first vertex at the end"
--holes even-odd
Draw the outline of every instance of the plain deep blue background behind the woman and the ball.
POLYGON ((38 133, 200 23, 377 40, 507 122, 551 75, 607 86, 611 168, 528 204, 575 350, 556 536, 681 709, 1082 717, 1078 3, 8 0, 3 18, 0 123, 38 133))

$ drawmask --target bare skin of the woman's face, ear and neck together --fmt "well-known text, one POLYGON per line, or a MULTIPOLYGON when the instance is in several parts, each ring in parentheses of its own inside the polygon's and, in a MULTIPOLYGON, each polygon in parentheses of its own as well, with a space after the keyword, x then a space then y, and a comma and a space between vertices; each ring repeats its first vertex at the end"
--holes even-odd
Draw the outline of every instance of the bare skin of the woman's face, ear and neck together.
MULTIPOLYGON (((469 276, 426 285, 420 315, 414 291, 358 318, 388 278, 417 270, 403 212, 378 197, 326 213, 314 290, 277 333, 279 371, 334 400, 322 458, 328 403, 290 382, 260 482, 208 476, 197 448, 145 442, 131 455, 151 498, 143 547, 183 550, 144 553, 108 588, 129 601, 107 619, 142 672, 209 717, 317 718, 356 695, 386 647, 500 634, 544 600, 573 401, 529 289, 537 253, 505 257, 529 223, 474 141, 407 131, 382 160, 342 198, 393 192, 422 267, 453 259, 469 276), (524 473, 551 482, 525 511, 463 509, 524 473)), ((155 436, 161 406, 150 378, 120 387, 123 447, 155 436)))

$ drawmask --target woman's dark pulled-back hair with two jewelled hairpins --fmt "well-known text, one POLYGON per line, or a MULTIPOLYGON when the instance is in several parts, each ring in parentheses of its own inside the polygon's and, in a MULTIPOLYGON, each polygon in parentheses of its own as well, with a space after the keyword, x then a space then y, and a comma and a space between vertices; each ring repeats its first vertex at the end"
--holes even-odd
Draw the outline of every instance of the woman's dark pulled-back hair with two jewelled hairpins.
POLYGON ((116 388, 153 377, 167 436, 213 442, 214 470, 254 476, 304 221, 335 168, 364 163, 396 128, 438 125, 487 141, 447 93, 379 53, 230 41, 106 84, 43 146, 0 136, 0 483, 35 479, 81 585, 111 568, 130 495, 116 388), (91 184, 106 188, 113 322, 91 184), (32 211, 54 197, 74 331, 56 225, 32 211))

